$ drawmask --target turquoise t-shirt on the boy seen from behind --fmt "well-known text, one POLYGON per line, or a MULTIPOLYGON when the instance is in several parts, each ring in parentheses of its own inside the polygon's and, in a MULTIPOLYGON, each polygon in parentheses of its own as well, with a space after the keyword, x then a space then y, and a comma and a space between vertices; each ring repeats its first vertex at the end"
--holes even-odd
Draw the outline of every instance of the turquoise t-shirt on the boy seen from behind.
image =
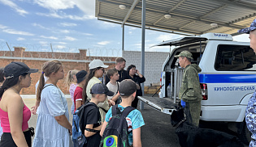
MULTIPOLYGON (((124 111, 125 107, 118 105, 121 111, 124 111)), ((107 111, 105 121, 109 122, 112 118, 112 107, 107 111)), ((132 131, 133 129, 140 128, 141 126, 145 125, 143 117, 141 115, 141 111, 137 109, 131 111, 128 116, 126 117, 126 121, 128 124, 128 131, 132 131)), ((132 145, 132 132, 128 134, 128 144, 132 145)))

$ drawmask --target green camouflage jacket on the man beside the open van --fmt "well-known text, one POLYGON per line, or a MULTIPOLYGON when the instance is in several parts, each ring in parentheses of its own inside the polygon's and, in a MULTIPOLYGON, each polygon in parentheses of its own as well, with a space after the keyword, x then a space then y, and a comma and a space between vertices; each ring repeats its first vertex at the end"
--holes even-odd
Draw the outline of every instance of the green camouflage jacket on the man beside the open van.
POLYGON ((179 92, 179 98, 184 102, 193 103, 202 100, 198 72, 201 72, 201 69, 195 64, 187 65, 184 69, 179 92))

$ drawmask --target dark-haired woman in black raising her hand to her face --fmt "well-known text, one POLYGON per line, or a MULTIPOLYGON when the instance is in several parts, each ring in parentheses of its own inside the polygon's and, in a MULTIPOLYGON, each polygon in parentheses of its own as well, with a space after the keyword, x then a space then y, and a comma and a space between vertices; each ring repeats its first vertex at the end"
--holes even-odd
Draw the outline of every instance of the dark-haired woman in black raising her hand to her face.
POLYGON ((136 97, 132 101, 132 107, 137 108, 138 105, 138 97, 137 96, 142 96, 142 90, 141 90, 141 83, 145 82, 144 76, 136 69, 135 65, 129 65, 127 68, 127 72, 129 74, 129 79, 132 79, 132 81, 136 82, 140 86, 140 90, 137 90, 136 92, 136 97))

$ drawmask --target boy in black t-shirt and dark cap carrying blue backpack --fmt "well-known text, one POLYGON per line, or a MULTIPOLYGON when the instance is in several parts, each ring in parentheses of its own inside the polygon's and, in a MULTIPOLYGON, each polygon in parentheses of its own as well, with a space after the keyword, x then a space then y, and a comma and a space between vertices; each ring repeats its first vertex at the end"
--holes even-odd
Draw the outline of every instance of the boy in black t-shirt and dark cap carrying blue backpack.
POLYGON ((85 107, 85 113, 83 114, 86 118, 84 122, 85 128, 81 131, 85 132, 88 147, 98 147, 102 139, 99 135, 99 131, 102 128, 102 120, 97 105, 98 103, 104 102, 106 100, 106 96, 112 96, 114 93, 108 90, 104 84, 96 83, 92 86, 90 94, 92 94, 92 99, 89 103, 93 103, 93 105, 85 107), (94 130, 94 132, 92 132, 92 130, 94 130), (95 132, 95 130, 98 130, 98 132, 95 132))

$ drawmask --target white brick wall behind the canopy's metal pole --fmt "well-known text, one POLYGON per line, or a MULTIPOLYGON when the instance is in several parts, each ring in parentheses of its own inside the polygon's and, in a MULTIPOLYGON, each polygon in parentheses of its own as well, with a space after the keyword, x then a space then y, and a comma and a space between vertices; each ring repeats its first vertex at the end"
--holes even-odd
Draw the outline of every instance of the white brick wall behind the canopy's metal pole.
MULTIPOLYGON (((136 65, 141 73, 141 52, 124 51, 123 57, 128 65, 136 65)), ((167 59, 168 52, 145 52, 145 86, 151 83, 159 83, 163 62, 167 59)))

